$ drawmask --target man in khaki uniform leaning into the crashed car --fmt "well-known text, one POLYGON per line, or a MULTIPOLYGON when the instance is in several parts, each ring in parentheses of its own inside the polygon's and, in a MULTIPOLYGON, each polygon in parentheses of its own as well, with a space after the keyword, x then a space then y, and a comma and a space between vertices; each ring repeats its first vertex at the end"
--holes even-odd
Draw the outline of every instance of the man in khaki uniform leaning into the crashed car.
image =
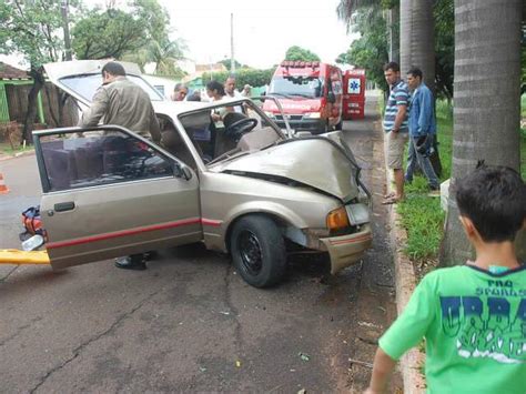
MULTIPOLYGON (((150 97, 127 79, 122 64, 113 61, 102 68, 102 85, 93 95, 91 108, 82 114, 79 125, 94 127, 101 120, 104 124, 121 125, 156 144, 161 142, 161 128, 150 97)), ((141 253, 117 259, 115 266, 145 270, 145 255, 141 253)))

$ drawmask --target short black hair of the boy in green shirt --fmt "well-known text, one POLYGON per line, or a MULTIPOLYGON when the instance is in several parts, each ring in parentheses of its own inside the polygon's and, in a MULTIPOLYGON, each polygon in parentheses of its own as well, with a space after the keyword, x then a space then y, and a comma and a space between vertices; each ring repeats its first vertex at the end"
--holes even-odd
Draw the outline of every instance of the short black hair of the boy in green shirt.
POLYGON ((483 164, 458 181, 456 202, 484 242, 514 241, 526 219, 526 184, 513 169, 483 164))

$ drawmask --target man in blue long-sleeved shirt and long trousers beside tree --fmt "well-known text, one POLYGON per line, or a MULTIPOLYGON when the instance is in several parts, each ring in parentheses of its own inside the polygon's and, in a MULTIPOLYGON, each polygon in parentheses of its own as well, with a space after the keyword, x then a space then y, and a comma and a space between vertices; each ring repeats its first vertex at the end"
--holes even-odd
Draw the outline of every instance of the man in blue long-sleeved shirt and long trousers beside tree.
POLYGON ((436 135, 436 120, 433 93, 422 80, 422 70, 414 67, 407 72, 407 85, 412 92, 409 100, 409 151, 405 180, 413 181, 416 163, 424 172, 432 191, 439 189, 429 155, 436 135))

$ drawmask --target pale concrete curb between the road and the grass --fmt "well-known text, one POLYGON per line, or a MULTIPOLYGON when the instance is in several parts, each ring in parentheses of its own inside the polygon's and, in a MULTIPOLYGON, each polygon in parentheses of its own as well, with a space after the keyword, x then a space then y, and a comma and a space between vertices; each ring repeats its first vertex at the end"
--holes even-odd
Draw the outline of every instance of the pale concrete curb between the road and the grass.
MULTIPOLYGON (((385 143, 385 134, 384 134, 385 143)), ((392 171, 387 168, 386 180, 387 190, 392 191, 392 171)), ((388 215, 391 224, 391 250, 393 251, 394 265, 395 265, 395 289, 396 289, 396 310, 398 315, 404 311, 407 305, 411 294, 416 286, 416 275, 413 263, 404 254, 403 250, 407 243, 407 232, 401 225, 401 216, 396 212, 397 204, 388 205, 388 215)), ((417 347, 411 348, 399 360, 399 370, 402 378, 404 381, 404 393, 405 394, 419 394, 425 393, 425 377, 421 373, 425 364, 425 354, 417 347)))

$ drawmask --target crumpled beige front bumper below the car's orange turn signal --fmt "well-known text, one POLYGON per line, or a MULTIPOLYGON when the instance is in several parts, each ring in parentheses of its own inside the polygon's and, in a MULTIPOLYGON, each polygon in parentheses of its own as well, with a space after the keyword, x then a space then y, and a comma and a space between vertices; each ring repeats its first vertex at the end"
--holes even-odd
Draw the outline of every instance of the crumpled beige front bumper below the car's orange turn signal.
POLYGON ((371 224, 364 224, 362 231, 341 236, 320 239, 324 249, 331 256, 331 273, 336 272, 356 263, 364 252, 373 243, 371 224))

